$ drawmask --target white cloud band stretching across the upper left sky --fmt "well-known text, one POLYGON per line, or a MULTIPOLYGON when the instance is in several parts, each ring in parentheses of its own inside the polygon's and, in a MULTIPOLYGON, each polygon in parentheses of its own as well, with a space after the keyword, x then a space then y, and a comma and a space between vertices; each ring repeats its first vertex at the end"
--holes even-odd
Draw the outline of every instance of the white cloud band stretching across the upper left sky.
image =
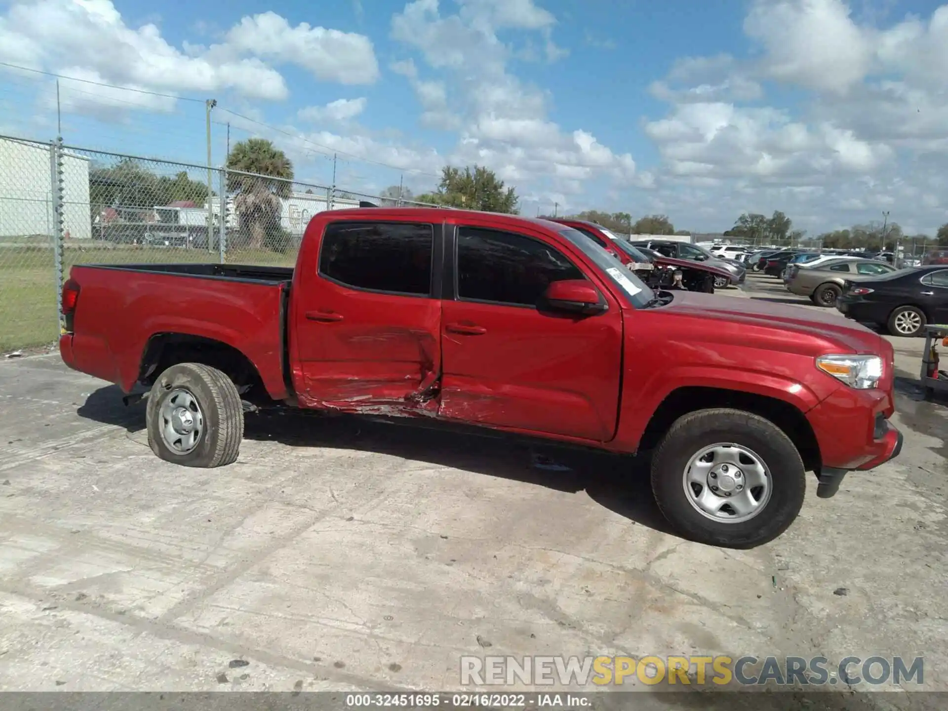
MULTIPOLYGON (((368 38, 305 23, 290 27, 273 12, 243 18, 223 44, 181 48, 169 44, 154 24, 128 27, 111 0, 14 0, 0 16, 0 61, 66 76, 69 68, 77 78, 96 76, 129 88, 232 90, 251 100, 285 100, 283 76, 264 60, 299 64, 321 80, 339 83, 374 82, 378 76, 368 38)), ((118 95, 89 93, 100 96, 103 105, 118 105, 118 95)), ((127 101, 140 108, 152 102, 127 101)))

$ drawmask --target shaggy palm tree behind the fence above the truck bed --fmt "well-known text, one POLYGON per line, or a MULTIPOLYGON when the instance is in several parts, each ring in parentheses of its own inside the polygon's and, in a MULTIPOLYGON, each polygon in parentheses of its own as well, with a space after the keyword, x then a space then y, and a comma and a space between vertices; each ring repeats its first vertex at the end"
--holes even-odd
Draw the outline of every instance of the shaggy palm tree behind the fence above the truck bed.
POLYGON ((264 138, 235 144, 228 155, 228 192, 234 194, 234 211, 249 246, 260 249, 268 233, 280 233, 283 199, 293 192, 293 163, 264 138), (245 174, 252 173, 252 174, 245 174))

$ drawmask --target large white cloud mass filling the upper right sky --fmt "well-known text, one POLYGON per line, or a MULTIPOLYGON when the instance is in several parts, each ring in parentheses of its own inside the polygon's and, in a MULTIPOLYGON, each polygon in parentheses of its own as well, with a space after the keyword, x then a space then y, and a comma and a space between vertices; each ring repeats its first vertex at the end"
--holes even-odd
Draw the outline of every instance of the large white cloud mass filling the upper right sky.
POLYGON ((651 85, 672 104, 644 124, 664 163, 651 199, 677 194, 679 210, 719 227, 785 210, 822 230, 889 204, 916 228, 943 221, 923 196, 945 185, 948 5, 875 27, 842 0, 754 0, 743 27, 761 50, 750 59, 683 58, 651 85), (803 91, 762 105, 765 81, 803 91))

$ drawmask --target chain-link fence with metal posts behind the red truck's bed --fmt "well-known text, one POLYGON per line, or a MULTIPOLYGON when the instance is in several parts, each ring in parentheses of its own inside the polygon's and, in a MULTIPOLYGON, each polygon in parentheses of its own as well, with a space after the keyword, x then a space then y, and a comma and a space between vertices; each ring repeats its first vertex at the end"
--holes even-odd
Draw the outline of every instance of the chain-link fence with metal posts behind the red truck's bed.
POLYGON ((0 136, 0 353, 54 343, 73 264, 295 264, 323 210, 439 207, 0 136))

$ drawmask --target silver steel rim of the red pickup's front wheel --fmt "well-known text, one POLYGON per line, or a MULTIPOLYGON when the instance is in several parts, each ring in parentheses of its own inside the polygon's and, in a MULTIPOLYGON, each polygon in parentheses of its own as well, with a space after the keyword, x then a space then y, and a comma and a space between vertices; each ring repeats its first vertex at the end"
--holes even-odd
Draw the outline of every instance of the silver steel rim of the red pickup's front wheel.
POLYGON ((763 511, 774 493, 770 467, 750 447, 719 442, 684 466, 684 496, 705 519, 742 523, 763 511))

